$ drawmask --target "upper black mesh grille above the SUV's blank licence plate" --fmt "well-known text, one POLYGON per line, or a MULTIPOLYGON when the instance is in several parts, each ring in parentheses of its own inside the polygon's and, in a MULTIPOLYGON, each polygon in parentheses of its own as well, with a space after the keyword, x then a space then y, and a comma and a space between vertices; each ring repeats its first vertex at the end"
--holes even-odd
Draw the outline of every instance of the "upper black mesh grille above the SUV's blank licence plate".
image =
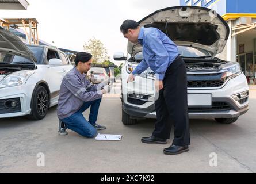
POLYGON ((188 87, 220 87, 223 83, 221 80, 188 81, 188 87))

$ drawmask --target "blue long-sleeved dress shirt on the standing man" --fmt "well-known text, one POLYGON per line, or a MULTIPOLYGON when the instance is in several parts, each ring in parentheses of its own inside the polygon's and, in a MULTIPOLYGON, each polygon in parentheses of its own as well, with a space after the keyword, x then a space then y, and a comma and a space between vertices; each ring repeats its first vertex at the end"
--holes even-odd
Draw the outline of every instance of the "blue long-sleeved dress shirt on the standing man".
POLYGON ((140 28, 138 41, 142 45, 143 60, 132 74, 141 74, 148 67, 157 80, 165 78, 165 72, 179 55, 177 45, 165 33, 156 28, 140 28))

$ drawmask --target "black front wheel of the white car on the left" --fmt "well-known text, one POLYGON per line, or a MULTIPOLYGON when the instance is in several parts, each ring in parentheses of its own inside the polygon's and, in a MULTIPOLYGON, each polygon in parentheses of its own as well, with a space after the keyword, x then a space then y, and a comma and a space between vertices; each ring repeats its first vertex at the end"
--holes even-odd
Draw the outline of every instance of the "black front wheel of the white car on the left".
POLYGON ((31 114, 28 116, 30 120, 43 119, 49 109, 49 96, 43 86, 37 86, 31 101, 31 114))

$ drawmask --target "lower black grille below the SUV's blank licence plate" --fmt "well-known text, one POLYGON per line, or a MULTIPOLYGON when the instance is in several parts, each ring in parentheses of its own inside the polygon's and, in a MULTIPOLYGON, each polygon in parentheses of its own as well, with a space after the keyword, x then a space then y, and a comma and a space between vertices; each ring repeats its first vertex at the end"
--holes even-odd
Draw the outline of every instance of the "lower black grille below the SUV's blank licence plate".
POLYGON ((190 108, 188 106, 188 109, 189 109, 189 113, 219 111, 219 110, 231 110, 230 106, 226 102, 212 102, 212 107, 209 107, 209 108, 190 108))

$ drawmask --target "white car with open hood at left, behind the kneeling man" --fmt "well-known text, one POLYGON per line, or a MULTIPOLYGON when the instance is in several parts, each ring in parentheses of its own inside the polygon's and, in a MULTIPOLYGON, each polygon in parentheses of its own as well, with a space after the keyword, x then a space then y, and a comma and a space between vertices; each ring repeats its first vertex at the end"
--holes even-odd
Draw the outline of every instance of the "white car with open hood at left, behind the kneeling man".
POLYGON ((72 68, 64 52, 25 45, 0 27, 0 118, 43 119, 58 104, 60 84, 72 68))

